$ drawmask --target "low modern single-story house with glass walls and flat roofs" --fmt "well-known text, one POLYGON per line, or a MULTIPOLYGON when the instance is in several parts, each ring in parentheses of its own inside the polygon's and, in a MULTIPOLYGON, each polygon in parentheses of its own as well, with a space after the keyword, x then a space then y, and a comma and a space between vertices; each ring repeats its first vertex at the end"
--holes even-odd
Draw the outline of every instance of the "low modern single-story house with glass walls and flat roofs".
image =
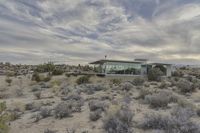
POLYGON ((147 60, 98 60, 91 62, 94 65, 94 70, 99 75, 147 75, 149 70, 154 67, 159 67, 165 76, 171 76, 172 64, 167 63, 148 63, 147 60))

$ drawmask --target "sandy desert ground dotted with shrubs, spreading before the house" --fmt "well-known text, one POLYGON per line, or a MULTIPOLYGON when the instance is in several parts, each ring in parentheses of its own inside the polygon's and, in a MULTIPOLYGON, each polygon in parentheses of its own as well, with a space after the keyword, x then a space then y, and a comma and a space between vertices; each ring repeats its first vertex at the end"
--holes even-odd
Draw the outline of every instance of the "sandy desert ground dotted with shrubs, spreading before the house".
MULTIPOLYGON (((0 76, 9 133, 200 133, 200 80, 176 76, 0 76)), ((3 133, 3 130, 0 130, 3 133)))

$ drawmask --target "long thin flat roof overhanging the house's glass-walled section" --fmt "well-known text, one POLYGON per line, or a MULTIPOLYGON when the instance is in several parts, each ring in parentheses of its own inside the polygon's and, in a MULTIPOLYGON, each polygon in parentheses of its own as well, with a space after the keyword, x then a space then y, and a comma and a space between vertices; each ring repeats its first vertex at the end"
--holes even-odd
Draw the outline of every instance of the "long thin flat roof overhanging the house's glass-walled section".
POLYGON ((103 63, 106 63, 106 62, 137 63, 137 64, 142 64, 142 63, 144 63, 144 62, 142 62, 142 61, 98 60, 98 61, 91 62, 91 63, 89 63, 89 64, 103 64, 103 63))

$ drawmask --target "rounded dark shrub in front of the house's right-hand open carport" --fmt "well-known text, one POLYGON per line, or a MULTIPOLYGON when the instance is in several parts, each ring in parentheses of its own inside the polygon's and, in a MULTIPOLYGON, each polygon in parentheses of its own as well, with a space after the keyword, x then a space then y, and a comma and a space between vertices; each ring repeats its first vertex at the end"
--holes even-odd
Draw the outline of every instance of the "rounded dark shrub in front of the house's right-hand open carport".
POLYGON ((161 81, 161 76, 163 76, 163 72, 159 68, 152 68, 149 70, 147 76, 149 81, 161 81))

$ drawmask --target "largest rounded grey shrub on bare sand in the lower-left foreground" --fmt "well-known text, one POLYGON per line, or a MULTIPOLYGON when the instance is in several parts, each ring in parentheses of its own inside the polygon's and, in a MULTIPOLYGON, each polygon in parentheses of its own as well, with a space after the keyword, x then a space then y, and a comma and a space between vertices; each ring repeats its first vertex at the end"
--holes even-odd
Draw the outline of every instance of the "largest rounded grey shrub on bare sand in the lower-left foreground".
POLYGON ((55 107, 55 117, 62 119, 64 117, 69 117, 72 113, 72 107, 69 103, 62 102, 55 107))

